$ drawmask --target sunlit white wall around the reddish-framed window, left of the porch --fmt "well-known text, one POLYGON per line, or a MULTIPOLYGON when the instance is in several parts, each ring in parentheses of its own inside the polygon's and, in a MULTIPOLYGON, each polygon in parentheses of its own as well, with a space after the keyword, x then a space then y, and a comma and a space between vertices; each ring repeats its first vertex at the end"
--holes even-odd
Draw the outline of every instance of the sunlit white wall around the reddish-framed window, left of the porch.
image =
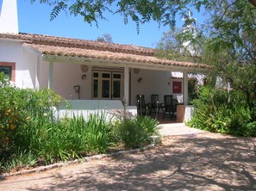
POLYGON ((27 57, 28 52, 20 41, 0 40, 0 62, 16 63, 16 86, 34 89, 34 58, 27 57))

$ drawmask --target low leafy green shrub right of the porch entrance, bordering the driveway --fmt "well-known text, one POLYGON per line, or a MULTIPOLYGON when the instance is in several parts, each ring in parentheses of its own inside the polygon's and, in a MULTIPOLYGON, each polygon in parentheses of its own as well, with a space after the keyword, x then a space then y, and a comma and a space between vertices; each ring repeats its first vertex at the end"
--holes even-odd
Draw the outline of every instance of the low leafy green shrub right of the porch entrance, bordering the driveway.
POLYGON ((255 120, 255 111, 247 104, 247 96, 242 91, 232 90, 228 95, 227 90, 203 87, 193 104, 190 126, 210 132, 253 135, 253 125, 249 124, 255 120))

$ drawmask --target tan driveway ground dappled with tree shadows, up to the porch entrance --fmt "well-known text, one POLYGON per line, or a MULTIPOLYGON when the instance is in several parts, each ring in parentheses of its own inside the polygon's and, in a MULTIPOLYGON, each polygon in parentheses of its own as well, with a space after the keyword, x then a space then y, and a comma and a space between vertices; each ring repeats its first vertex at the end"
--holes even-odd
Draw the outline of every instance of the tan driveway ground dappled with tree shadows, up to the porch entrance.
POLYGON ((185 131, 147 151, 9 177, 0 190, 256 190, 255 138, 185 131))

